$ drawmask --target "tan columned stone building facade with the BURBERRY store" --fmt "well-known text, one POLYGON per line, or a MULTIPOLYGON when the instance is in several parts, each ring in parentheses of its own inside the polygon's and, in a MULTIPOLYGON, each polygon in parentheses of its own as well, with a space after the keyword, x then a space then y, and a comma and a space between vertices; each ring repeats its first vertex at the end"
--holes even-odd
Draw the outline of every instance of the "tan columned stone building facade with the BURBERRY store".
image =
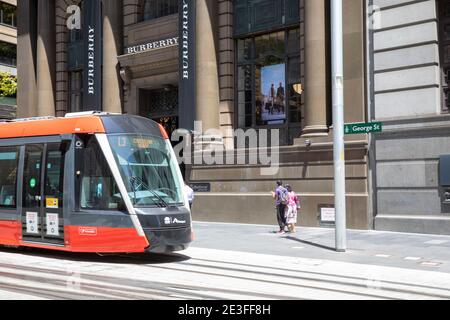
MULTIPOLYGON (((83 110, 83 33, 68 19, 83 2, 19 0, 19 114, 63 116, 83 110), (75 9, 74 9, 75 8, 75 9)), ((138 114, 179 128, 181 37, 176 0, 102 1, 102 110, 138 114)), ((344 0, 345 121, 366 122, 366 6, 344 0)), ((275 224, 277 180, 302 198, 300 224, 326 225, 334 203, 329 1, 197 0, 196 120, 222 133, 231 159, 254 149, 234 130, 279 133, 279 167, 205 163, 188 166, 198 190, 194 218, 275 224)), ((82 26, 83 28, 83 26, 82 26)), ((350 228, 372 229, 366 135, 346 137, 350 228)), ((264 146, 268 153, 274 145, 264 146)), ((258 152, 260 152, 259 150, 258 152)), ((195 155, 202 158, 203 149, 195 155)))

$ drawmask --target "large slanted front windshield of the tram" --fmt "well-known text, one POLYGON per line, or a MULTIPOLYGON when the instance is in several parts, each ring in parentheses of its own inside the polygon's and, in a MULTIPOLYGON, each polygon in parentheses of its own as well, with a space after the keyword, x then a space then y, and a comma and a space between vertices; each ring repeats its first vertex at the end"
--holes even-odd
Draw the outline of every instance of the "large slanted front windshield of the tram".
POLYGON ((178 163, 165 140, 139 134, 109 135, 108 139, 136 207, 183 205, 178 163))

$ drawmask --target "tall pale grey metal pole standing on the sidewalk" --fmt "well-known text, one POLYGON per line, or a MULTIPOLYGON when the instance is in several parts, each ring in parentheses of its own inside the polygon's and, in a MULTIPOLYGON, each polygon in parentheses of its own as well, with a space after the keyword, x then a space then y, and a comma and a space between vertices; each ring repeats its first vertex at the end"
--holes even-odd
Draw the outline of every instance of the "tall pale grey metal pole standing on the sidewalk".
POLYGON ((344 45, 342 32, 342 0, 330 1, 336 251, 345 252, 347 250, 347 219, 345 203, 344 45))

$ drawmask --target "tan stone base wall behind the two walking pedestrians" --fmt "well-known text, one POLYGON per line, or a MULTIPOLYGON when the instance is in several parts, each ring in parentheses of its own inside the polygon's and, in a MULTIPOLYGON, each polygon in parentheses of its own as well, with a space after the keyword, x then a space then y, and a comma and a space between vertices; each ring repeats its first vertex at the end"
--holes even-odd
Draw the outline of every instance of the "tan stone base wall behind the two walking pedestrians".
MULTIPOLYGON (((364 142, 347 144, 347 221, 352 229, 371 229, 368 214, 367 150, 364 142)), ((235 150, 237 153, 251 151, 235 150)), ((269 152, 269 154, 272 151, 269 152)), ((258 165, 194 166, 191 182, 209 183, 211 192, 196 194, 195 220, 276 225, 271 191, 283 180, 300 195, 299 225, 321 226, 320 209, 334 205, 333 145, 324 143, 313 151, 291 146, 280 150, 277 174, 265 176, 258 165)))

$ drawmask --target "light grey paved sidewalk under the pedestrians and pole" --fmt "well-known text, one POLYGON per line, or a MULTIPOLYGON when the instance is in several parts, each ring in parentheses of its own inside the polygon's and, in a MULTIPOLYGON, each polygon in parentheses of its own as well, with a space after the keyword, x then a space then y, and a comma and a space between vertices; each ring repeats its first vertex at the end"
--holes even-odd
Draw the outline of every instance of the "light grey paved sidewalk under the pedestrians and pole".
POLYGON ((348 251, 334 251, 334 229, 195 222, 194 248, 324 259, 365 265, 450 273, 450 236, 348 231, 348 251))

